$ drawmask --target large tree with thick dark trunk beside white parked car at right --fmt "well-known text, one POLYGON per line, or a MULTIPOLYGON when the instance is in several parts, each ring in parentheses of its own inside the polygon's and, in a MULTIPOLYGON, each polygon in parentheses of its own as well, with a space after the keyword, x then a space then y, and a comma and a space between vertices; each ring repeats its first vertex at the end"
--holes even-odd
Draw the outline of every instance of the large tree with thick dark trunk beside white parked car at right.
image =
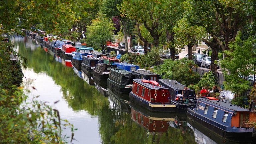
POLYGON ((191 25, 202 26, 211 38, 203 41, 212 48, 211 70, 216 72, 218 49, 229 50, 228 43, 234 41, 253 15, 249 11, 252 4, 247 0, 188 0, 186 17, 191 25), (247 10, 249 9, 249 10, 247 10))

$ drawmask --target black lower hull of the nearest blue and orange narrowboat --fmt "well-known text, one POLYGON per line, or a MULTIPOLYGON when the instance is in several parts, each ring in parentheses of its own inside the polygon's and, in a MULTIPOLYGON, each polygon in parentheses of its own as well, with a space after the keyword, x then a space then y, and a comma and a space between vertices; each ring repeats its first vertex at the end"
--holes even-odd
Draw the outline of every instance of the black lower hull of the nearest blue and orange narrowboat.
POLYGON ((207 127, 212 133, 220 135, 228 140, 245 143, 250 143, 252 141, 253 128, 227 127, 209 120, 205 116, 196 114, 191 109, 187 110, 187 121, 192 123, 192 125, 207 127))

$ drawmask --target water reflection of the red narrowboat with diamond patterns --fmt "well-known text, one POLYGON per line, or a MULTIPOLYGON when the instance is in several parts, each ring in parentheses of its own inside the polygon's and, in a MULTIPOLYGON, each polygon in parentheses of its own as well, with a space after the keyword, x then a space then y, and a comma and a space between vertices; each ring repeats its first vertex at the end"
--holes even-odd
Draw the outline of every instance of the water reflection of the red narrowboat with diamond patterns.
POLYGON ((170 121, 175 121, 175 113, 151 112, 130 102, 132 120, 149 132, 166 132, 170 121))

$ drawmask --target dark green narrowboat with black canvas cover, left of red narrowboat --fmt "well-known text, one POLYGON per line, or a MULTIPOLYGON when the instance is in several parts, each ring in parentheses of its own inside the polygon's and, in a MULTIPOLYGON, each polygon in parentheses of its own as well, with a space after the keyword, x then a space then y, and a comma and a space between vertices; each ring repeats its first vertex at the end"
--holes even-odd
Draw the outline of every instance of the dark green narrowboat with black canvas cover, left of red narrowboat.
POLYGON ((111 69, 107 86, 118 93, 129 94, 132 90, 133 79, 138 75, 123 69, 111 69))

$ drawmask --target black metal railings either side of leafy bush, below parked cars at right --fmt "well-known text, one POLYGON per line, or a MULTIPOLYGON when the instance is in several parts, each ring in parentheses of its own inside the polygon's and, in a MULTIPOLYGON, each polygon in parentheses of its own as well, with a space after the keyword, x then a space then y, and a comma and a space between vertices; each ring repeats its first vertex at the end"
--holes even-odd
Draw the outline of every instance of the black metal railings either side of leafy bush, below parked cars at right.
MULTIPOLYGON (((206 70, 206 69, 201 69, 201 68, 193 68, 193 71, 194 72, 197 72, 199 75, 200 75, 200 79, 202 78, 202 76, 205 74, 205 73, 208 73, 210 70, 206 70)), ((224 75, 222 73, 213 73, 213 75, 215 76, 216 78, 216 84, 218 84, 219 86, 222 86, 223 85, 223 81, 225 81, 225 78, 224 78, 224 75)))

